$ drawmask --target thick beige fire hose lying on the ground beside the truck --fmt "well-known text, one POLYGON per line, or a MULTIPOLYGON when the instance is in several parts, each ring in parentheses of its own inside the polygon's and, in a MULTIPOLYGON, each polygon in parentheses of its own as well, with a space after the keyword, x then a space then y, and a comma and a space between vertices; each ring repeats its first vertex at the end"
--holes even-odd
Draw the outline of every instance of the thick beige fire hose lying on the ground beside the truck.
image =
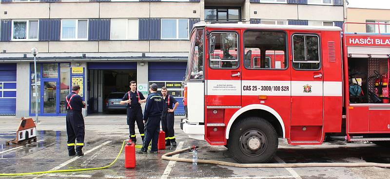
MULTIPOLYGON (((171 157, 176 154, 191 152, 192 147, 176 150, 173 152, 162 155, 162 160, 167 161, 181 161, 190 162, 192 159, 174 158, 171 157)), ((226 161, 213 161, 213 160, 197 160, 198 163, 204 164, 216 164, 223 166, 232 166, 239 168, 299 168, 299 167, 379 167, 390 168, 390 163, 374 163, 374 162, 356 162, 356 163, 232 163, 226 161)))

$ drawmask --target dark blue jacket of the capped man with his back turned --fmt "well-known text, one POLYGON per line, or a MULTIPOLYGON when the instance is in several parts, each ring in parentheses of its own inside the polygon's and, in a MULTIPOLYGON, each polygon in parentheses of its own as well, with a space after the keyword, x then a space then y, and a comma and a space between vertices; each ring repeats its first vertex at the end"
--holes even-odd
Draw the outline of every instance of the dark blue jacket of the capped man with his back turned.
POLYGON ((143 120, 147 121, 148 117, 161 116, 163 99, 158 93, 152 93, 146 99, 146 106, 143 113, 143 120))

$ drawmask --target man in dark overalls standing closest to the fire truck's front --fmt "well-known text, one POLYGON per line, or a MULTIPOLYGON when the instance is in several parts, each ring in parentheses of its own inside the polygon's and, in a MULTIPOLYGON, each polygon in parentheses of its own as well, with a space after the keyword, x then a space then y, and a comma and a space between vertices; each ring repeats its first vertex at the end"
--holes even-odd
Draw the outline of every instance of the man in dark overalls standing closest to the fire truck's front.
POLYGON ((167 94, 167 87, 162 87, 161 89, 162 98, 163 98, 163 110, 161 116, 161 125, 162 130, 165 132, 165 146, 169 146, 172 143, 172 146, 176 147, 175 140, 175 110, 179 106, 179 102, 176 99, 167 94), (173 105, 175 104, 175 107, 173 105))

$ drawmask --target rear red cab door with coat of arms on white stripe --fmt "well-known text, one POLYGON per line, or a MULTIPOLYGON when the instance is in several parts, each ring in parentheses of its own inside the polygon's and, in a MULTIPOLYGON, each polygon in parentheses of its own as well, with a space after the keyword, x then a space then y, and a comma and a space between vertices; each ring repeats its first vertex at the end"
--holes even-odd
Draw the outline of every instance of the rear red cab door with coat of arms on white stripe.
POLYGON ((321 132, 318 131, 323 125, 321 33, 295 32, 291 34, 291 41, 292 131, 295 126, 301 131, 315 129, 321 132))

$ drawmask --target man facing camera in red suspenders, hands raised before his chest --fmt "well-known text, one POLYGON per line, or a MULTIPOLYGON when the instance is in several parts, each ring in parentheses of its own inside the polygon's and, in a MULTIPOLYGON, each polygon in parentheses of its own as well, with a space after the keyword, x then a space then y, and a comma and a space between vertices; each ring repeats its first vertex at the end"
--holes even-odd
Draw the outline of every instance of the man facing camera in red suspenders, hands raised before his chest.
POLYGON ((127 125, 129 125, 129 138, 133 143, 137 142, 135 123, 137 121, 137 127, 142 141, 144 141, 144 124, 142 123, 142 108, 141 104, 146 102, 145 97, 139 91, 137 91, 137 82, 130 82, 130 91, 128 91, 120 101, 121 105, 127 104, 127 125))

